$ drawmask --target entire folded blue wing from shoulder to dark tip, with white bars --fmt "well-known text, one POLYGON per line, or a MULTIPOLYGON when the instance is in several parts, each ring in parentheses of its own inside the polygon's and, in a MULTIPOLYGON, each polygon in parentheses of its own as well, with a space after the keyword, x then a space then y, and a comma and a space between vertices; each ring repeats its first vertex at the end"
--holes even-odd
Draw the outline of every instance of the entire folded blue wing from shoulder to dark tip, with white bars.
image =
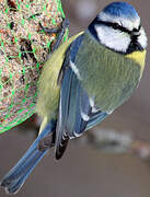
POLYGON ((83 35, 70 45, 58 80, 61 89, 56 128, 56 159, 62 157, 70 138, 79 137, 84 130, 107 116, 107 113, 101 111, 92 113, 89 96, 81 86, 78 73, 71 66, 76 60, 80 45, 82 45, 82 39, 83 35))

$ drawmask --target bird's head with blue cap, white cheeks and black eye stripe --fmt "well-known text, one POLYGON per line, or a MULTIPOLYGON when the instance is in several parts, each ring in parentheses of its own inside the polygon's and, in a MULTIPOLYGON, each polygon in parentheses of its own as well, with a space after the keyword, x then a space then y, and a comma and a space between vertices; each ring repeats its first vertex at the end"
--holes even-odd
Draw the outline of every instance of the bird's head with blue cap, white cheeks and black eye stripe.
POLYGON ((145 50, 147 35, 134 7, 127 2, 108 4, 89 25, 101 44, 120 54, 145 50))

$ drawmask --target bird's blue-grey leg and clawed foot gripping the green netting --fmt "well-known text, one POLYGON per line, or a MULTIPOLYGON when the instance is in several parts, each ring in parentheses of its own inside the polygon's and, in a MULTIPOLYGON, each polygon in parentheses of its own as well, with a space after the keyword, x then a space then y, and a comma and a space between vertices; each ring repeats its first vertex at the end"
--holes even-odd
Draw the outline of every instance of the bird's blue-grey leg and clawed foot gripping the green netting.
POLYGON ((39 23, 39 26, 47 34, 53 34, 53 33, 58 34, 57 40, 56 40, 55 45, 51 48, 51 50, 54 51, 59 47, 59 45, 61 43, 61 39, 62 39, 62 37, 64 37, 65 33, 66 33, 66 30, 69 27, 69 20, 64 18, 61 25, 59 27, 56 27, 56 28, 44 27, 42 25, 42 23, 39 23))

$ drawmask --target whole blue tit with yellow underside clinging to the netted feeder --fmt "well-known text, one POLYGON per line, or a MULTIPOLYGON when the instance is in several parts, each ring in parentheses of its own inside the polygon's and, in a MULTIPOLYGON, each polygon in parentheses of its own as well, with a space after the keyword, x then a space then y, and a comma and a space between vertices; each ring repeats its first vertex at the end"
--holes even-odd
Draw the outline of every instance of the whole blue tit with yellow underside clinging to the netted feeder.
POLYGON ((16 194, 51 148, 59 160, 70 139, 82 136, 131 96, 143 73, 147 39, 136 9, 117 1, 53 53, 38 81, 39 135, 1 179, 7 193, 16 194))

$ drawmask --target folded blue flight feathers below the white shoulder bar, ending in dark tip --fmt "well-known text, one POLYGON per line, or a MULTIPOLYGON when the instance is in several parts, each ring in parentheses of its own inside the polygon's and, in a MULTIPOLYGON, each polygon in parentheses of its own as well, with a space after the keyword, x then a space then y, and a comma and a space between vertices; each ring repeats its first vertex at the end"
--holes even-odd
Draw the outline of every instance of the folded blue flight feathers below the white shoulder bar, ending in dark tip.
POLYGON ((56 159, 64 154, 69 138, 80 136, 86 127, 83 115, 89 117, 91 106, 86 93, 69 68, 61 81, 59 118, 56 129, 56 159))

